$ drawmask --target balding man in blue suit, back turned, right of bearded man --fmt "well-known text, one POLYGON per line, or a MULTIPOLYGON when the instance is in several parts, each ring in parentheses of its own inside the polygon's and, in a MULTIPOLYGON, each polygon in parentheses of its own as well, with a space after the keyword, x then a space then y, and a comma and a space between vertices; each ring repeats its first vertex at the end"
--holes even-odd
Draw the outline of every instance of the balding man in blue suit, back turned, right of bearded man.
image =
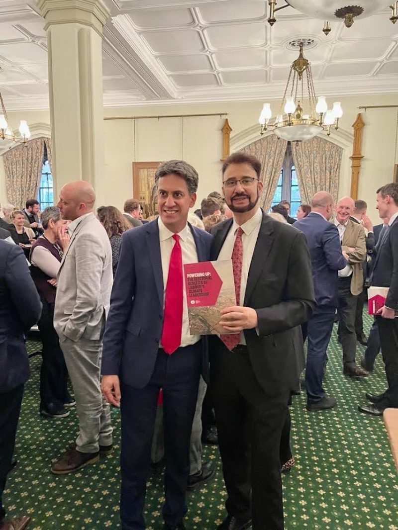
POLYGON ((329 223, 333 197, 326 191, 315 193, 311 212, 293 225, 307 238, 313 266, 316 307, 308 321, 306 368, 307 410, 331 409, 336 404, 322 386, 326 350, 330 341, 334 313, 338 304, 338 271, 347 265, 341 250, 339 231, 329 223))

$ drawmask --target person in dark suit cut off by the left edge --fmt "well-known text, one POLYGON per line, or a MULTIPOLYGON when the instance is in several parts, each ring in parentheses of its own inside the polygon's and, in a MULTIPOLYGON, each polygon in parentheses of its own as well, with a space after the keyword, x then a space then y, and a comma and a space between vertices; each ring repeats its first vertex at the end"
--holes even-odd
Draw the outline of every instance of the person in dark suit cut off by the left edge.
POLYGON ((29 377, 23 334, 39 320, 41 302, 22 249, 0 240, 0 528, 22 530, 29 517, 4 520, 2 504, 15 445, 23 385, 29 377))

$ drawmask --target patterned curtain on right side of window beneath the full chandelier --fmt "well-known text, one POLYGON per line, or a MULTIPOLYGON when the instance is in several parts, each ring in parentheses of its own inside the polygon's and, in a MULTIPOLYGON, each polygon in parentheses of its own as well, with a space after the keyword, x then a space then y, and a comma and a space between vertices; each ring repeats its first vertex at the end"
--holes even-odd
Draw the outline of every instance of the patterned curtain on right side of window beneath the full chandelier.
POLYGON ((343 148, 316 136, 306 142, 292 142, 301 201, 310 204, 317 191, 328 191, 337 200, 343 148))

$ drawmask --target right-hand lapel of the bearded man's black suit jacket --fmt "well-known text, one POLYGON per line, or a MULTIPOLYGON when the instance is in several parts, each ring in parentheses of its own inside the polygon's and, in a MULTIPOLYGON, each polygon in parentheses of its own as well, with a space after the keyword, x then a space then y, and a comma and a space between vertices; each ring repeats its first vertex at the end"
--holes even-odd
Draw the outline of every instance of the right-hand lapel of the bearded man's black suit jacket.
MULTIPOLYGON (((244 305, 247 305, 247 301, 257 284, 257 280, 261 275, 261 272, 265 266, 268 254, 271 251, 274 242, 272 220, 270 217, 265 215, 263 211, 263 220, 261 227, 258 232, 256 245, 254 247, 252 263, 250 263, 249 274, 247 277, 246 292, 244 305)), ((245 259, 245 256, 244 256, 245 259)))

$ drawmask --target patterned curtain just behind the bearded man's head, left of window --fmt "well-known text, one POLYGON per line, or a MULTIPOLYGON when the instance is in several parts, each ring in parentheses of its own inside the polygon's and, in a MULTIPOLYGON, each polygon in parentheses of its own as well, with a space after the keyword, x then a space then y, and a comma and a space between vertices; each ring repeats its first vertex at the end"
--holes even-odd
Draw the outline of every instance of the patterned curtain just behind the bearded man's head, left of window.
POLYGON ((283 165, 286 152, 286 140, 271 134, 247 145, 242 149, 245 153, 256 156, 262 163, 260 180, 263 183, 263 193, 260 206, 268 211, 278 185, 279 174, 283 165))

